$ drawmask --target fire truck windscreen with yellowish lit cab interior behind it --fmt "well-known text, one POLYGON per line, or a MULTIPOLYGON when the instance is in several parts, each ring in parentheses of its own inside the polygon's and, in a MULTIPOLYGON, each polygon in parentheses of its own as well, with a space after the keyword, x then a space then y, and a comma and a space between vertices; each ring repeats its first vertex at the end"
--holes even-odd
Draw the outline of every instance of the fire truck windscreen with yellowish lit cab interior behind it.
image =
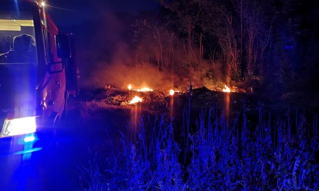
POLYGON ((35 41, 31 12, 0 8, 0 63, 37 64, 35 41))

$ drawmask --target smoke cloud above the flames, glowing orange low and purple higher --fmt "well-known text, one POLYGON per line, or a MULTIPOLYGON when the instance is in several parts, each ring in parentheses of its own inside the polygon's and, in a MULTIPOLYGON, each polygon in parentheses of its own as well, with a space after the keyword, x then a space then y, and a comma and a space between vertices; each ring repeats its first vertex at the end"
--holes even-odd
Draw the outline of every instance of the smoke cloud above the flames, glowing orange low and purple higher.
POLYGON ((76 27, 80 88, 104 88, 109 85, 127 88, 131 84, 133 89, 148 87, 159 91, 184 91, 188 90, 190 82, 193 87, 212 86, 212 75, 207 75, 211 64, 203 63, 200 69, 189 67, 185 60, 190 58, 186 59, 183 55, 182 44, 174 49, 175 65, 180 65, 179 68, 160 68, 154 59, 151 63, 155 56, 150 44, 154 42, 143 38, 141 42, 134 41, 132 23, 135 16, 128 13, 105 14, 76 27), (137 56, 141 53, 138 52, 141 47, 144 60, 137 56))

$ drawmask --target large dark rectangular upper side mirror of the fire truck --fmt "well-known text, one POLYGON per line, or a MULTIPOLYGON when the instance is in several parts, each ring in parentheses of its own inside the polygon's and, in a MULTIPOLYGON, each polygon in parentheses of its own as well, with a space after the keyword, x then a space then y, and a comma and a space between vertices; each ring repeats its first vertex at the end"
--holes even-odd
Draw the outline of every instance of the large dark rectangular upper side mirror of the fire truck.
POLYGON ((66 34, 55 35, 55 45, 57 50, 57 56, 59 58, 70 58, 71 50, 69 37, 66 34))

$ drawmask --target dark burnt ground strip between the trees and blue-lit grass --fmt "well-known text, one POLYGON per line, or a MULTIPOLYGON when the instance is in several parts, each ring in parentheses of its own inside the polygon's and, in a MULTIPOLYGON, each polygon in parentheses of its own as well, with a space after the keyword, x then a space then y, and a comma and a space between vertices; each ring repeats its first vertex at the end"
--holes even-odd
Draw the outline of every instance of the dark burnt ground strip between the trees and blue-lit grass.
MULTIPOLYGON (((234 120, 245 107, 248 118, 258 118, 259 114, 269 115, 274 120, 278 117, 285 119, 293 117, 296 112, 302 112, 310 119, 319 112, 319 91, 289 92, 276 95, 271 93, 224 93, 210 91, 205 87, 192 90, 190 105, 189 92, 175 93, 168 95, 163 92, 138 93, 135 91, 121 89, 96 89, 84 90, 79 99, 81 101, 81 114, 99 119, 105 116, 105 112, 111 115, 118 115, 131 119, 131 110, 136 105, 128 104, 128 100, 134 95, 143 98, 143 102, 137 103, 141 115, 175 117, 175 122, 182 120, 183 113, 190 109, 191 120, 199 117, 199 113, 206 112, 211 107, 217 107, 219 113, 224 112, 228 120, 234 120), (227 112, 227 97, 229 97, 229 112, 227 112)), ((184 113, 185 114, 185 113, 184 113)), ((115 117, 115 116, 114 116, 115 117)), ((121 117, 121 118, 122 118, 121 117)), ((116 117, 115 117, 116 118, 116 117)))

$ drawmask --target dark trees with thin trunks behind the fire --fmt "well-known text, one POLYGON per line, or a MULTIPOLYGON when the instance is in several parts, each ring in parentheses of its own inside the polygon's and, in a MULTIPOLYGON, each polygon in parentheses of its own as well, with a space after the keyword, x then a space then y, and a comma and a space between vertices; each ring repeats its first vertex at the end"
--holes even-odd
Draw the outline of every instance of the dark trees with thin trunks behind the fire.
POLYGON ((147 40, 153 52, 149 56, 160 70, 181 65, 182 60, 193 69, 210 65, 215 70, 220 65, 234 81, 293 82, 307 77, 314 82, 317 78, 318 4, 307 0, 159 1, 165 22, 145 20, 137 23, 135 32, 140 41, 153 39, 154 43, 147 40))

